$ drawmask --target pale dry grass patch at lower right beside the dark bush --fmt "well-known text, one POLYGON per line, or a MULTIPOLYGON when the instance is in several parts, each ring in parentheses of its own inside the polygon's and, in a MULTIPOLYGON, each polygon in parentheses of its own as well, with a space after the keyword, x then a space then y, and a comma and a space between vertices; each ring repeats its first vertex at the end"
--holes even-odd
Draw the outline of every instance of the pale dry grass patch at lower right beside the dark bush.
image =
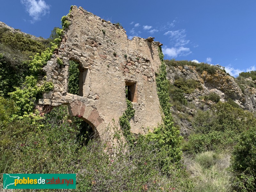
POLYGON ((231 173, 228 172, 230 154, 206 151, 194 158, 184 157, 190 178, 197 192, 228 192, 230 191, 231 173))

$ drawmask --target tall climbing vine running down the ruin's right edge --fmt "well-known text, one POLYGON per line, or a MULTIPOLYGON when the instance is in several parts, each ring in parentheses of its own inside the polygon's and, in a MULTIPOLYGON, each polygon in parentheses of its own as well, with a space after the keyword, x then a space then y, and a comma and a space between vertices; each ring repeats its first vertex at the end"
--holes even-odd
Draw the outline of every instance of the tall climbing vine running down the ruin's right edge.
POLYGON ((170 111, 171 104, 168 94, 168 80, 166 79, 166 67, 164 64, 164 54, 161 47, 158 47, 159 59, 161 65, 156 76, 157 95, 159 98, 163 123, 158 125, 153 133, 149 133, 146 137, 149 140, 155 141, 160 148, 160 154, 164 157, 160 162, 162 168, 169 171, 170 168, 178 164, 181 159, 182 152, 180 150, 180 143, 182 137, 179 130, 173 126, 172 114, 170 111))

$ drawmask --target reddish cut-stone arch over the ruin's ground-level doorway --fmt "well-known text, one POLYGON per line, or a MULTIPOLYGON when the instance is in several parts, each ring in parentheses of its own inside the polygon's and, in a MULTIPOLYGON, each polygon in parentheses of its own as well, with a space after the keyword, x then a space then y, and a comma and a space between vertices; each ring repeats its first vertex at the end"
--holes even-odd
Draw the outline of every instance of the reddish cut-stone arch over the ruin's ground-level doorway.
POLYGON ((77 116, 83 119, 92 127, 96 137, 100 137, 104 134, 106 124, 100 117, 100 114, 96 108, 93 108, 91 105, 85 105, 81 101, 71 102, 68 106, 72 116, 77 116))

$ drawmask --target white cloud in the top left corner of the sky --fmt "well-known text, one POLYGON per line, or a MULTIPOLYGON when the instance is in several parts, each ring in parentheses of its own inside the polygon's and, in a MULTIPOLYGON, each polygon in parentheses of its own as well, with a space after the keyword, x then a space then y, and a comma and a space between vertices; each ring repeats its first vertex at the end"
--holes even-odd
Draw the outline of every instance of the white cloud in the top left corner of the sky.
POLYGON ((46 4, 44 0, 20 0, 20 2, 25 5, 29 16, 33 18, 32 23, 40 20, 50 10, 50 5, 46 4))

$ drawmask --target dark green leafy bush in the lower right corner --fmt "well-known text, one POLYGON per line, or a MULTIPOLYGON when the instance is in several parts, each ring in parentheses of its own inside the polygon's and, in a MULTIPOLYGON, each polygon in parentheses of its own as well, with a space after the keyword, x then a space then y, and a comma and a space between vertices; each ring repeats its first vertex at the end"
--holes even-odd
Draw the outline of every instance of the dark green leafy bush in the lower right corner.
POLYGON ((255 191, 256 188, 256 128, 242 133, 231 156, 231 170, 235 174, 236 191, 255 191))

